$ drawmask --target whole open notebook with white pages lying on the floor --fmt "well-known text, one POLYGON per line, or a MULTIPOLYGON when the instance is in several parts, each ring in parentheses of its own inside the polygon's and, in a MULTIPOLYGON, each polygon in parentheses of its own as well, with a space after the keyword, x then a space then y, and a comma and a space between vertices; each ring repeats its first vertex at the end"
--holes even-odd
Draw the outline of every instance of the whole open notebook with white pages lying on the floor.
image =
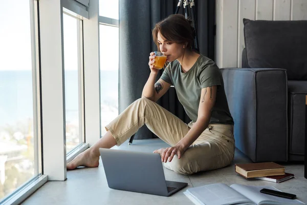
POLYGON ((228 205, 228 204, 305 204, 297 199, 287 199, 260 193, 261 189, 272 189, 270 186, 247 186, 224 183, 213 183, 202 187, 187 189, 184 194, 195 204, 228 205))

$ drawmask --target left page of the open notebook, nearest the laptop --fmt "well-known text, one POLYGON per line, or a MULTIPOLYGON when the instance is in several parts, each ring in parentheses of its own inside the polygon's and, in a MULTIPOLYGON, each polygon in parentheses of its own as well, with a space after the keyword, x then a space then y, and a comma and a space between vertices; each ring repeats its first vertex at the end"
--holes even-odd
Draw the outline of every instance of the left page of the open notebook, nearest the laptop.
POLYGON ((254 204, 250 199, 231 189, 224 183, 214 183, 212 185, 190 188, 187 192, 190 192, 195 198, 198 198, 206 205, 254 204))

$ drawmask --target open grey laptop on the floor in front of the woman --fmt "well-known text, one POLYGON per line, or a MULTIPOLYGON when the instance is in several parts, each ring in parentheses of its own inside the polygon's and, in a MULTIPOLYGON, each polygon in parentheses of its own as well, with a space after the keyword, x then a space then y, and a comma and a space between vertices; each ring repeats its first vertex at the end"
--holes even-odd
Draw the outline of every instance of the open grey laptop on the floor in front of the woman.
POLYGON ((107 185, 111 189, 170 196, 188 185, 165 180, 158 153, 104 148, 99 151, 107 185))

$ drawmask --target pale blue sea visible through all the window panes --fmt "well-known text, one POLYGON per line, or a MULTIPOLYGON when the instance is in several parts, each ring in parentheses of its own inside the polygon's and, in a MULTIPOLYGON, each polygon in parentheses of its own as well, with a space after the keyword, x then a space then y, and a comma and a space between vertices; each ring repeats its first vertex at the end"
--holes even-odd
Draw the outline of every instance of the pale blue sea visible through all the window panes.
MULTIPOLYGON (((65 71, 66 120, 78 114, 78 72, 65 71)), ((118 70, 100 70, 101 107, 118 110, 118 70)), ((31 70, 0 71, 0 127, 33 119, 33 86, 31 70)))

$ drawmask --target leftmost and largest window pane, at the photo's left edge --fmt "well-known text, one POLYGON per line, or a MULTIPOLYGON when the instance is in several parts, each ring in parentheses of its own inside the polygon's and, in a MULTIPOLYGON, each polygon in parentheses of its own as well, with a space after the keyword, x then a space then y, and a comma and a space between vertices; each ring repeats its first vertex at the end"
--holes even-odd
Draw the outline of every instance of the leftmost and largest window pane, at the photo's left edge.
POLYGON ((0 25, 1 201, 38 172, 38 161, 34 160, 37 136, 33 134, 29 1, 3 1, 0 25))

